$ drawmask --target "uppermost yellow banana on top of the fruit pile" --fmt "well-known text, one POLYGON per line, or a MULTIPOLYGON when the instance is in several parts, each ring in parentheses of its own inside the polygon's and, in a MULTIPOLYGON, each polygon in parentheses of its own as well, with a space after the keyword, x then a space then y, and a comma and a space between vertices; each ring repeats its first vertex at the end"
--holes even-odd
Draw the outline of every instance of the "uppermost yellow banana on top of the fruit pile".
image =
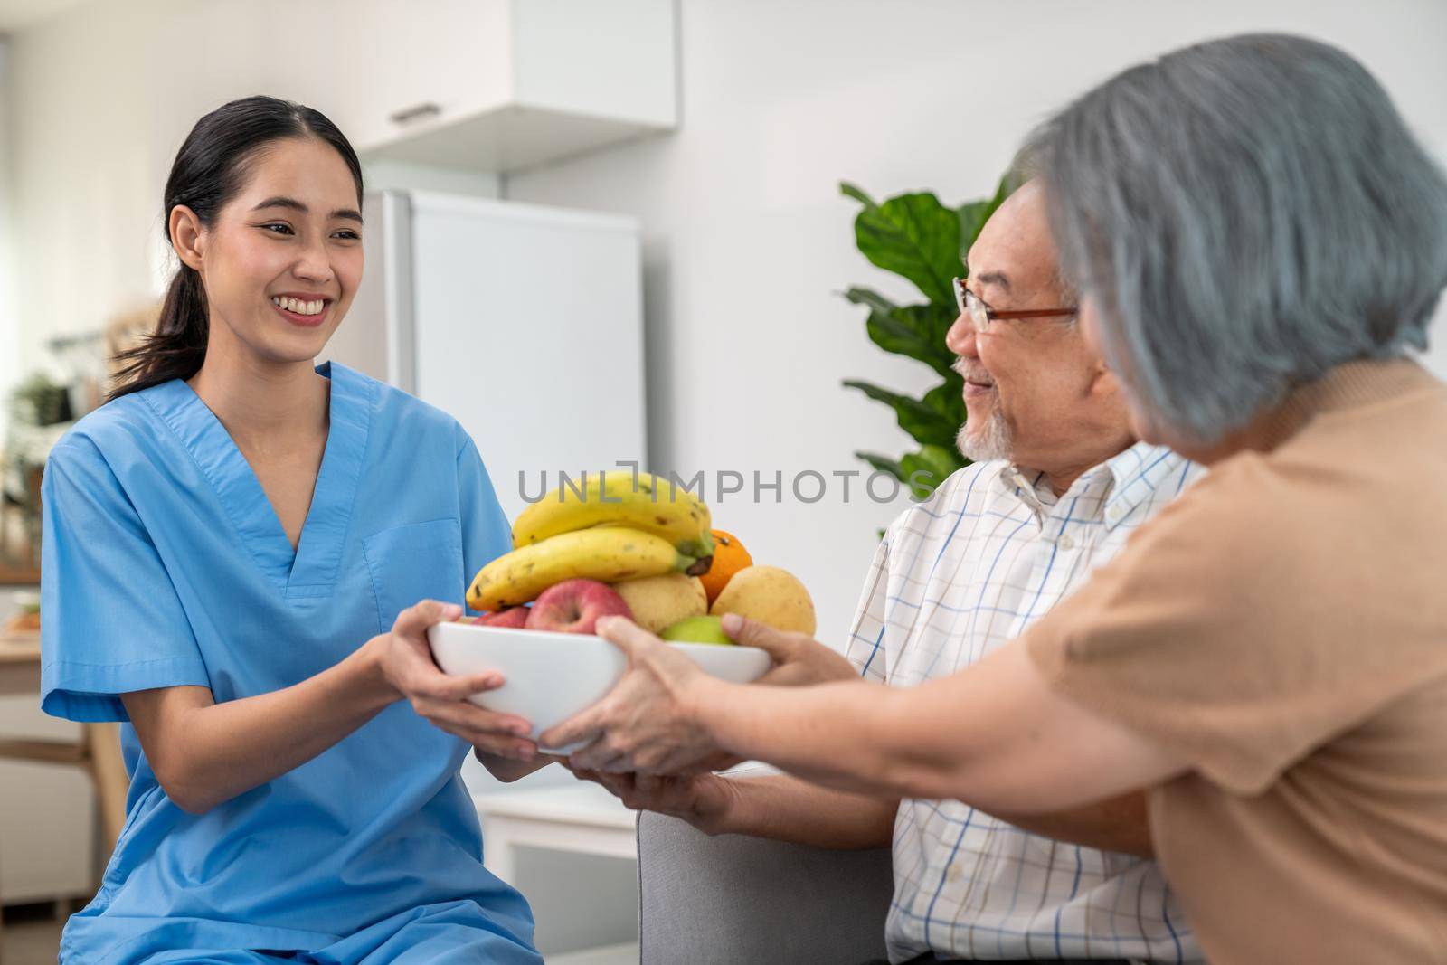
POLYGON ((625 469, 583 473, 576 483, 543 496, 512 524, 512 547, 598 525, 651 532, 684 556, 713 556, 712 518, 702 499, 653 473, 625 469))

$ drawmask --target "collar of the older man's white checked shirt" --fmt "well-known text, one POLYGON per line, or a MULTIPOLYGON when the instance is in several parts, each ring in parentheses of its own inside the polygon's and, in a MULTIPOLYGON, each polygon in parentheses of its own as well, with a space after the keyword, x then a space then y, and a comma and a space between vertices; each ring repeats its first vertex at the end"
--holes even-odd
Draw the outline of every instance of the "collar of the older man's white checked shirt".
POLYGON ((1165 446, 1136 443, 1098 466, 1081 473, 1064 496, 1056 496, 1045 473, 1001 462, 1000 485, 1043 518, 1061 501, 1091 493, 1100 495, 1103 524, 1107 531, 1124 522, 1147 502, 1172 472, 1184 472, 1185 459, 1165 446))

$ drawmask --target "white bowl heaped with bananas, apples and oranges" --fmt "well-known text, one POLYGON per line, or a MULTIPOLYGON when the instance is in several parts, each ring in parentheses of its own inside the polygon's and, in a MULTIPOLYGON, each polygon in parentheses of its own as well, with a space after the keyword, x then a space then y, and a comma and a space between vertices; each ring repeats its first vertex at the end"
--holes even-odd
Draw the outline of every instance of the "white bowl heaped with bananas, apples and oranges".
POLYGON ((764 676, 770 657, 729 639, 724 613, 815 629, 797 579, 752 566, 734 535, 710 530, 702 501, 647 473, 585 475, 553 490, 518 516, 512 544, 467 590, 482 615, 437 624, 428 639, 444 673, 501 673, 504 684, 472 702, 524 718, 534 739, 622 676, 622 651, 593 632, 603 616, 632 619, 732 683, 764 676))

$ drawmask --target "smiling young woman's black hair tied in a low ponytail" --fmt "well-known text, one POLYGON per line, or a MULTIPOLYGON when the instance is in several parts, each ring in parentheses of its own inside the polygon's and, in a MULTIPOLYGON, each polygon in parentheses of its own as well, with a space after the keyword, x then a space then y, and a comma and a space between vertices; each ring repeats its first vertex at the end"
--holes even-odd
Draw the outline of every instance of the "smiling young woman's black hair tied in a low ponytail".
MULTIPOLYGON (((256 155, 287 137, 318 137, 336 148, 352 171, 352 179, 357 185, 357 207, 362 207, 362 163, 336 124, 311 107, 276 97, 243 97, 195 122, 177 152, 171 177, 166 178, 166 240, 172 240, 172 208, 184 204, 201 224, 210 226, 216 213, 240 191, 247 166, 256 155)), ((120 367, 110 398, 117 399, 171 379, 190 379, 205 359, 208 328, 201 275, 182 263, 166 289, 155 331, 135 349, 116 356, 120 367)))

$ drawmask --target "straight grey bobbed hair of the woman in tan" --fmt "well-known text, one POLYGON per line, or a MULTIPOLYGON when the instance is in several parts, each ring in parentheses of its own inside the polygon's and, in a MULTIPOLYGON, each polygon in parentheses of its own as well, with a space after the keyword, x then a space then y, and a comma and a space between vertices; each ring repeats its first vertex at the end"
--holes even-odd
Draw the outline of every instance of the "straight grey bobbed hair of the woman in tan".
POLYGON ((1337 365, 1427 347, 1447 178, 1334 46, 1176 51, 1077 100, 1022 158, 1107 362, 1178 438, 1218 441, 1337 365))

